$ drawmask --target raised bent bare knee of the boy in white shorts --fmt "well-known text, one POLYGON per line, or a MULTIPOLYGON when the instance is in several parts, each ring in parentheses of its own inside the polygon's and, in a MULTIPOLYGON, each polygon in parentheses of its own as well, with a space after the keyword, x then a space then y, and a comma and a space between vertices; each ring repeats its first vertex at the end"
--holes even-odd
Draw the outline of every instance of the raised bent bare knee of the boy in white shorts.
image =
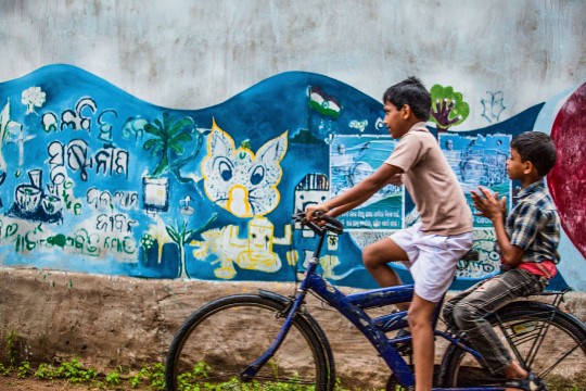
MULTIPOLYGON (((407 261, 408 258, 407 253, 391 238, 383 238, 367 245, 362 251, 365 267, 382 288, 403 283, 397 273, 388 266, 388 262, 407 261)), ((397 307, 400 311, 407 311, 409 303, 397 303, 397 307)))

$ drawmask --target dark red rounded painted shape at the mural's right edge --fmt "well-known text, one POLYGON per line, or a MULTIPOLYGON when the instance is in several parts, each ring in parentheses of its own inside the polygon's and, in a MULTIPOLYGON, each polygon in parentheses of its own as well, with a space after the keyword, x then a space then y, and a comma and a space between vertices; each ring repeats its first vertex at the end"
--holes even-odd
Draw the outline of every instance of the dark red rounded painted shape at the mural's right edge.
POLYGON ((547 177, 549 192, 563 229, 586 257, 586 83, 561 108, 551 138, 558 161, 547 177))

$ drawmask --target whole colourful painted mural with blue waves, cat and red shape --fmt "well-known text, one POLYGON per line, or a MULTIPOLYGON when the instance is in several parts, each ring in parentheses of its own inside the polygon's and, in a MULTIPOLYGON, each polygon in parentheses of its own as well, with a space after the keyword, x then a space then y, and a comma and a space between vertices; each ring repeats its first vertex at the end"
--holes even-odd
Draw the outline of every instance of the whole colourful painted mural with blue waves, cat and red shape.
MULTIPOLYGON (((537 102, 504 122, 501 91, 468 102, 457 86, 431 88, 436 127, 430 130, 470 204, 469 190, 481 185, 512 205, 519 184, 505 171, 510 139, 525 130, 551 133, 560 164, 548 185, 582 256, 571 262, 586 255, 584 213, 575 213, 586 210, 575 197, 586 193, 585 86, 557 98, 564 102, 559 113, 544 115, 558 102, 537 102), (482 106, 489 125, 451 131, 466 124, 470 105, 482 106)), ((291 281, 315 244, 291 214, 368 176, 396 143, 382 124, 380 101, 303 72, 276 75, 215 106, 173 110, 84 70, 50 65, 1 83, 0 106, 2 267, 291 281)), ((328 237, 324 276, 374 287, 361 249, 417 219, 404 189, 385 187, 342 217, 345 234, 328 237)), ((489 222, 475 217, 474 228, 481 260, 459 273, 456 289, 498 272, 489 222)), ((402 265, 393 267, 410 280, 402 265)), ((575 285, 560 268, 551 287, 575 285)))

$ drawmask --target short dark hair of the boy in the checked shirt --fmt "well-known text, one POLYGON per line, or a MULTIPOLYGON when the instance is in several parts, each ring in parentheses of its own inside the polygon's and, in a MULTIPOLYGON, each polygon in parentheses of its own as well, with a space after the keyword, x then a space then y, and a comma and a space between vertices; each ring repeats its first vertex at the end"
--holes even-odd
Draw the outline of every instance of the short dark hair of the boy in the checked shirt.
POLYGON ((511 140, 513 148, 523 162, 533 163, 540 176, 547 173, 556 164, 556 144, 551 138, 540 131, 525 131, 511 140))

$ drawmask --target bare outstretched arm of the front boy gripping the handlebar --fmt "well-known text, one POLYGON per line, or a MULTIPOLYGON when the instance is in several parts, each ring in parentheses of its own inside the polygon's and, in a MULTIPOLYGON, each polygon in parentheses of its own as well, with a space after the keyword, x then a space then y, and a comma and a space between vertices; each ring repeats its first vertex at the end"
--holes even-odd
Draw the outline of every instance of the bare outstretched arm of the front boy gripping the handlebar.
POLYGON ((396 181, 397 174, 400 174, 399 167, 383 164, 374 172, 374 174, 356 184, 342 194, 321 204, 307 206, 307 218, 311 219, 314 213, 317 211, 323 213, 331 211, 332 213, 330 213, 330 215, 340 216, 367 201, 385 185, 392 182, 392 180, 396 181))

